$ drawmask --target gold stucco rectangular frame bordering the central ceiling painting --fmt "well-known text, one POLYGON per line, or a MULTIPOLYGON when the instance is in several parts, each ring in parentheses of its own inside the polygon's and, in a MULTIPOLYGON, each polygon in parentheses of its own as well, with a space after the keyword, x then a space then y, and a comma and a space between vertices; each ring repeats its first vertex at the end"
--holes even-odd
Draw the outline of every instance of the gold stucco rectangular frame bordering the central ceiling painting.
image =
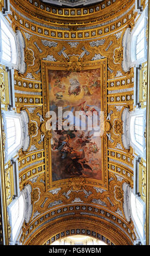
MULTIPOLYGON (((68 70, 69 67, 75 66, 66 62, 48 62, 46 60, 41 61, 41 74, 42 74, 42 96, 43 96, 43 118, 49 111, 49 90, 48 90, 48 70, 68 70)), ((75 63, 74 63, 75 64, 75 63)), ((104 119, 107 117, 107 58, 95 60, 91 62, 78 62, 77 66, 80 66, 80 70, 99 69, 101 70, 101 76, 103 77, 102 87, 102 111, 104 111, 104 119)), ((75 71, 75 70, 73 70, 75 71)), ((95 180, 86 178, 86 185, 96 186, 108 190, 108 138, 106 133, 102 137, 102 180, 95 180)), ((51 172, 51 150, 50 139, 44 139, 44 151, 45 151, 45 190, 49 191, 54 187, 66 186, 69 179, 52 181, 51 172)))

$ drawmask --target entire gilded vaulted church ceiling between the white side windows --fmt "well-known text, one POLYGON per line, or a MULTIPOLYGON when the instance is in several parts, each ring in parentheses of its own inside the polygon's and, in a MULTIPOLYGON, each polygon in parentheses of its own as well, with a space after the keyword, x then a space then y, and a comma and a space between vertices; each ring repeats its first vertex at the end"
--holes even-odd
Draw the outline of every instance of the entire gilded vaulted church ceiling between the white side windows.
POLYGON ((79 224, 74 232, 92 234, 97 226, 101 234, 97 228, 95 235, 112 244, 136 239, 123 206, 123 184, 133 187, 134 157, 122 141, 122 114, 133 109, 134 74, 123 70, 122 40, 137 13, 131 0, 99 2, 64 9, 41 1, 10 1, 12 28, 24 42, 25 69, 14 75, 16 109, 27 112, 30 136, 28 150, 21 150, 18 159, 20 189, 32 188, 23 244, 38 239, 49 244, 56 235, 69 235, 71 220, 79 224), (91 105, 104 112, 104 133, 96 141, 84 132, 45 128, 51 108, 75 111, 91 105), (58 150, 62 142, 66 148, 58 150))

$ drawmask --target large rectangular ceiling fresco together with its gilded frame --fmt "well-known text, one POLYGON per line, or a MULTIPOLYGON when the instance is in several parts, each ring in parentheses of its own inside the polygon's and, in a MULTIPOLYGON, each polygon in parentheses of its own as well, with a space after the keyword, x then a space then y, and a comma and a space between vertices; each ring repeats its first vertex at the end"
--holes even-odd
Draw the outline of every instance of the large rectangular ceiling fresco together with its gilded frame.
MULTIPOLYGON (((45 144, 46 148, 50 148, 46 172, 50 170, 49 184, 79 175, 97 180, 106 187, 107 160, 103 159, 103 148, 105 151, 107 148, 106 138, 102 139, 102 136, 103 113, 107 111, 107 102, 103 98, 107 93, 107 63, 106 59, 99 60, 97 69, 92 69, 93 65, 89 62, 89 70, 80 71, 77 65, 79 59, 76 60, 76 65, 62 71, 50 70, 49 63, 42 62, 42 77, 45 74, 47 77, 46 84, 42 80, 43 88, 47 88, 43 92, 46 106, 43 112, 47 117, 45 130, 54 125, 51 141, 45 144), (53 119, 56 120, 52 124, 53 119)), ((62 63, 60 66, 62 69, 62 63)), ((84 63, 83 69, 85 66, 84 63)))

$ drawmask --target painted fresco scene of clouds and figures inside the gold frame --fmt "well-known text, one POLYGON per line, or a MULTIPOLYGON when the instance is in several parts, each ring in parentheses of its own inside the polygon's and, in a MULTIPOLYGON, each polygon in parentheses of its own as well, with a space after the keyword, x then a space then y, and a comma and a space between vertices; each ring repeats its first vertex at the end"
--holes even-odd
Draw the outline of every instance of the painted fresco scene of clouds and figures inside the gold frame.
POLYGON ((52 181, 75 175, 101 180, 102 141, 88 125, 88 115, 95 114, 99 120, 102 110, 101 69, 79 72, 48 70, 48 86, 49 110, 57 115, 56 130, 51 139, 52 181), (72 119, 63 117, 63 122, 69 120, 66 124, 72 124, 71 130, 58 127, 58 107, 62 108, 62 115, 66 111, 73 113, 72 119), (85 119, 75 118, 76 111, 82 111, 85 119), (81 124, 86 129, 81 130, 81 124))

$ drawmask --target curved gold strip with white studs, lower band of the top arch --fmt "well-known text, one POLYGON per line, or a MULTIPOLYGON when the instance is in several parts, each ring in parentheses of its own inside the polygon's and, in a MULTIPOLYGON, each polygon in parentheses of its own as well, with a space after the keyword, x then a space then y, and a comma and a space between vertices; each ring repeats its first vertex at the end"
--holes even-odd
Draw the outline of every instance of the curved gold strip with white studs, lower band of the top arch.
POLYGON ((99 25, 94 25, 90 27, 80 27, 77 31, 71 32, 67 27, 54 27, 50 25, 44 25, 41 22, 35 22, 34 20, 28 19, 26 16, 22 15, 19 11, 17 11, 14 7, 14 10, 11 10, 11 19, 14 19, 15 22, 19 24, 22 28, 28 29, 32 33, 36 33, 38 35, 50 36, 51 38, 57 39, 66 39, 66 40, 74 40, 74 39, 91 39, 95 38, 95 36, 100 36, 102 34, 107 35, 120 29, 131 22, 134 17, 134 12, 132 8, 129 8, 123 15, 116 17, 114 20, 107 21, 105 23, 101 23, 99 25), (16 13, 15 13, 16 11, 16 13), (129 13, 128 13, 129 12, 129 13), (125 16, 126 15, 126 16, 125 16), (25 20, 28 21, 25 21, 25 20), (31 23, 32 22, 32 23, 31 23), (45 26, 45 28, 44 28, 45 26), (57 31, 57 32, 56 32, 57 31))

